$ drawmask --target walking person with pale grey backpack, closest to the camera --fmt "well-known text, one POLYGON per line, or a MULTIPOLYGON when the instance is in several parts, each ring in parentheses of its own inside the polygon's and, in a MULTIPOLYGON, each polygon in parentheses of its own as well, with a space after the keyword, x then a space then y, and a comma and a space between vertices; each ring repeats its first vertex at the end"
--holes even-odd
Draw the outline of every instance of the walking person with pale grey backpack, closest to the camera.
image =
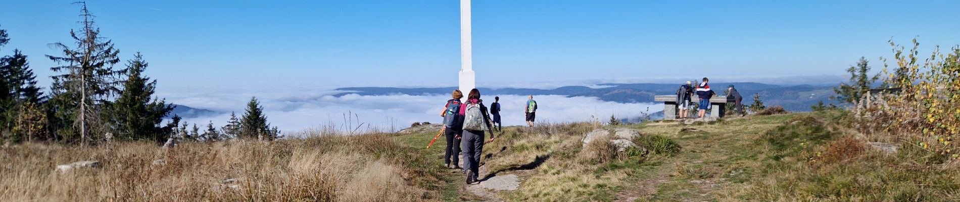
MULTIPOLYGON (((483 154, 484 130, 492 128, 490 115, 487 113, 487 106, 480 100, 480 90, 476 88, 470 90, 467 101, 461 108, 465 108, 464 130, 463 130, 463 151, 464 168, 467 169, 467 184, 479 183, 477 177, 480 171, 480 155, 483 154)), ((490 142, 493 142, 493 133, 490 134, 490 142)))

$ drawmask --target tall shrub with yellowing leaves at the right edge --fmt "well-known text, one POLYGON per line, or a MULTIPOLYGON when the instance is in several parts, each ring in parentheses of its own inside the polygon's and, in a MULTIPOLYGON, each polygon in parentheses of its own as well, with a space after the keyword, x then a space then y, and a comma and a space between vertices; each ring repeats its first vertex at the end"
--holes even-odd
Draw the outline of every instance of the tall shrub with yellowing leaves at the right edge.
POLYGON ((896 66, 889 69, 887 58, 881 57, 883 73, 889 76, 885 83, 900 88, 899 93, 877 96, 873 105, 858 107, 855 120, 869 126, 861 132, 896 134, 897 139, 918 140, 924 149, 960 159, 956 144, 951 144, 960 134, 960 46, 946 55, 937 48, 924 59, 919 58, 917 39, 910 50, 890 45, 896 66))

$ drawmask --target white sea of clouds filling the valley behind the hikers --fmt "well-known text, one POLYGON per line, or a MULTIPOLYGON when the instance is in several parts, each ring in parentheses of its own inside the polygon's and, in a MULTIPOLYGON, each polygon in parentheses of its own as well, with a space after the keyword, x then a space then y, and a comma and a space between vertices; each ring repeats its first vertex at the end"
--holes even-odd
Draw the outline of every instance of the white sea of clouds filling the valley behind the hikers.
MULTIPOLYGON (((256 97, 263 106, 268 121, 278 126, 284 134, 297 134, 303 130, 333 126, 361 130, 379 129, 396 131, 415 122, 440 123, 440 112, 449 95, 390 95, 360 96, 350 94, 334 97, 343 91, 332 88, 304 87, 256 87, 256 88, 170 88, 158 90, 156 96, 166 101, 194 108, 213 110, 217 115, 187 118, 188 123, 203 127, 208 122, 221 126, 229 120, 230 112, 243 114, 246 104, 256 97), (345 118, 352 114, 350 119, 345 118), (348 126, 352 125, 352 126, 348 126)), ((482 94, 482 92, 481 92, 482 94)), ((488 106, 493 97, 499 96, 504 125, 524 124, 523 107, 526 96, 483 95, 488 106)), ((643 113, 661 111, 662 103, 618 103, 600 101, 593 97, 535 96, 540 105, 537 111, 539 123, 601 122, 617 118, 636 118, 643 113)))

